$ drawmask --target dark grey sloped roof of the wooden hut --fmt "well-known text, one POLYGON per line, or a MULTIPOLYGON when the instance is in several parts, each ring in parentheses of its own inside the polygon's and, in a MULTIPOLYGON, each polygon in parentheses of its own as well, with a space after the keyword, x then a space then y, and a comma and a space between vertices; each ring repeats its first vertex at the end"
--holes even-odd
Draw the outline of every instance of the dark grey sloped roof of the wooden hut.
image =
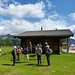
POLYGON ((73 36, 74 34, 70 29, 64 30, 42 30, 42 31, 26 31, 14 37, 27 37, 27 36, 73 36))

